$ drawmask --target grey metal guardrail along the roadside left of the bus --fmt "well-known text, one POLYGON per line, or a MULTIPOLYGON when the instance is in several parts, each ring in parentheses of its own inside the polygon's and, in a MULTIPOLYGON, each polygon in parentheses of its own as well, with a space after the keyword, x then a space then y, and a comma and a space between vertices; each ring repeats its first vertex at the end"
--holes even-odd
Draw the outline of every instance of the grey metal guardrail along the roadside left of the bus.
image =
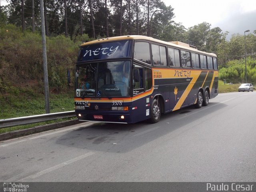
POLYGON ((49 113, 10 119, 0 119, 0 129, 76 116, 75 111, 49 113))

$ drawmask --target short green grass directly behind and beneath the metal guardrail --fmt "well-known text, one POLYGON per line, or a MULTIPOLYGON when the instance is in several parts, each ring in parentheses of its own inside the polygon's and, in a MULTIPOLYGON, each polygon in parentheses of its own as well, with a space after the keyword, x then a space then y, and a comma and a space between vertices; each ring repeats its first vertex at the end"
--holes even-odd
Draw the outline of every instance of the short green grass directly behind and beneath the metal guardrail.
MULTIPOLYGON (((50 113, 74 110, 73 90, 60 93, 50 93, 50 113)), ((42 92, 35 92, 31 88, 9 87, 8 94, 0 94, 0 119, 16 118, 45 114, 45 99, 42 92)), ((0 129, 0 133, 31 128, 38 125, 62 122, 74 118, 64 118, 28 125, 14 126, 0 129)))

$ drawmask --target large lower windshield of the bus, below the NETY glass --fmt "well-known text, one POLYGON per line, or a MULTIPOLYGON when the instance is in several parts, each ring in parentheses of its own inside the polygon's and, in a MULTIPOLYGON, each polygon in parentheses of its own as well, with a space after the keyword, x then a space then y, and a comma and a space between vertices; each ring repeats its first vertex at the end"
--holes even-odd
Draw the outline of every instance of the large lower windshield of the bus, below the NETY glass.
POLYGON ((98 62, 77 68, 77 97, 130 96, 130 61, 98 62))

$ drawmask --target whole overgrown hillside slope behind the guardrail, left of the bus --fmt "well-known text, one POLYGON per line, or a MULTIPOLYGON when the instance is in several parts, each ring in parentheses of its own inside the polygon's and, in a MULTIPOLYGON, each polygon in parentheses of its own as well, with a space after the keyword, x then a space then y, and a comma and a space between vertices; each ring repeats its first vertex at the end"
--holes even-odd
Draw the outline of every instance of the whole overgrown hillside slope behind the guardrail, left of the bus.
MULTIPOLYGON (((88 36, 81 36, 83 41, 88 36)), ((50 112, 74 110, 66 68, 74 68, 81 40, 46 38, 50 112)), ((0 27, 0 119, 43 114, 42 39, 13 25, 0 27)))

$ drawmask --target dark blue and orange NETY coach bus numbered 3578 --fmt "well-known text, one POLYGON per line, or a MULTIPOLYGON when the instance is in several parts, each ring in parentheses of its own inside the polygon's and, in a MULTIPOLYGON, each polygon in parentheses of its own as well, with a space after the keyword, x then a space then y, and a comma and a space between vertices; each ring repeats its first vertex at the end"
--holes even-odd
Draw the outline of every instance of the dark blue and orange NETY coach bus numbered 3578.
POLYGON ((156 123, 163 113, 201 108, 217 95, 217 56, 194 46, 146 36, 80 46, 74 78, 78 120, 156 123))

